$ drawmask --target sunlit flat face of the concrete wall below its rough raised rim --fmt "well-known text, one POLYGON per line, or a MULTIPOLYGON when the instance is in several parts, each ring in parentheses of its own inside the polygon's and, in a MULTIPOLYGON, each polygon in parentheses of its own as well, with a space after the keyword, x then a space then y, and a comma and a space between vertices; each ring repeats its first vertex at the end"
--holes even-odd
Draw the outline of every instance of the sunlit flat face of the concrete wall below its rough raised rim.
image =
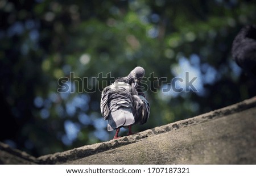
POLYGON ((65 164, 256 164, 256 108, 65 164))

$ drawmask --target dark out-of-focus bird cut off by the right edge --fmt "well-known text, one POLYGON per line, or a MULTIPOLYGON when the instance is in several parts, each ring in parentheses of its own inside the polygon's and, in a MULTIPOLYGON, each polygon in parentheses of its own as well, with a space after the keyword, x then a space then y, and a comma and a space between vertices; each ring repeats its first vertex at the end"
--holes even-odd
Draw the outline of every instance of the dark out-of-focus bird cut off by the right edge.
POLYGON ((249 77, 256 77, 256 26, 248 25, 238 32, 233 40, 232 56, 249 77))

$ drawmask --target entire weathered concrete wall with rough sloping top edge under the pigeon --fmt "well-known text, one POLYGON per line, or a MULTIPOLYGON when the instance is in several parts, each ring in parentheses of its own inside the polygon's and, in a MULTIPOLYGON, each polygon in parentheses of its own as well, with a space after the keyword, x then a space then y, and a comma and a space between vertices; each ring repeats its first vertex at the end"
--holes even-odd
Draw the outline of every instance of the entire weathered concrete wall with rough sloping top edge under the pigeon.
MULTIPOLYGON (((18 154, 22 161, 6 162, 1 150, 0 145, 3 164, 25 164, 23 160, 28 164, 256 164, 256 98, 118 140, 39 158, 18 154)), ((12 150, 4 152, 9 160, 12 150)))

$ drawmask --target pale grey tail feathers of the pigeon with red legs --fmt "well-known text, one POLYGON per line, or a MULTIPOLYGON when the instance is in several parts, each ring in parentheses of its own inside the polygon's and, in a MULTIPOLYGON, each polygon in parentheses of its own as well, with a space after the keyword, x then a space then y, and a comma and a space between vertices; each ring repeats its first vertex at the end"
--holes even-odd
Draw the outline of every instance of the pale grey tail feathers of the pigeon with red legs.
POLYGON ((118 110, 109 113, 108 131, 113 131, 119 127, 126 127, 134 124, 134 116, 130 108, 119 107, 118 110))

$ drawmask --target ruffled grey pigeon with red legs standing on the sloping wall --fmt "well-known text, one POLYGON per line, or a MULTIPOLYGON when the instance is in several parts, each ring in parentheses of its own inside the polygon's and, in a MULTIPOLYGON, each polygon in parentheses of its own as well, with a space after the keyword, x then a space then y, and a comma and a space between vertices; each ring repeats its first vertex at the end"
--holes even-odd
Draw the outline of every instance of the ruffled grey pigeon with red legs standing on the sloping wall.
POLYGON ((137 66, 128 76, 115 79, 112 85, 101 93, 101 114, 108 120, 108 131, 116 130, 113 139, 118 139, 121 127, 129 128, 132 135, 133 124, 144 124, 150 115, 148 103, 139 83, 144 77, 144 69, 137 66))

